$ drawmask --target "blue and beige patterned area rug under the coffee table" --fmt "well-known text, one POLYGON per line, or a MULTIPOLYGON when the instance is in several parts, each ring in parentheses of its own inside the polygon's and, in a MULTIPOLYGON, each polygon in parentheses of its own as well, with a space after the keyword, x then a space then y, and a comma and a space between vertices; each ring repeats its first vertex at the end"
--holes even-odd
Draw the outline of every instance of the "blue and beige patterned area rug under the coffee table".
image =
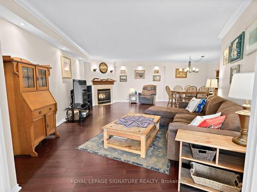
POLYGON ((103 133, 100 133, 96 137, 78 146, 77 149, 155 170, 156 172, 169 174, 170 161, 167 158, 166 133, 167 127, 161 126, 159 133, 156 135, 154 141, 149 147, 145 158, 140 158, 140 155, 138 154, 117 150, 112 147, 104 148, 103 133))

